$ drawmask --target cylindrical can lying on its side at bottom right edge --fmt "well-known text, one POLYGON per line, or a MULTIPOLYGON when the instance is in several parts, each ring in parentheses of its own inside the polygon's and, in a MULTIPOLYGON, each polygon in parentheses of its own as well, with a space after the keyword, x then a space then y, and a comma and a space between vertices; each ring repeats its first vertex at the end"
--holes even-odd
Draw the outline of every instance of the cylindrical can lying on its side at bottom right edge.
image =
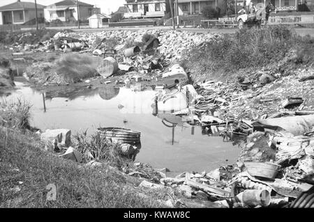
POLYGON ((242 193, 239 193, 237 197, 249 207, 256 207, 258 205, 267 207, 271 203, 271 196, 267 190, 246 189, 242 193))

